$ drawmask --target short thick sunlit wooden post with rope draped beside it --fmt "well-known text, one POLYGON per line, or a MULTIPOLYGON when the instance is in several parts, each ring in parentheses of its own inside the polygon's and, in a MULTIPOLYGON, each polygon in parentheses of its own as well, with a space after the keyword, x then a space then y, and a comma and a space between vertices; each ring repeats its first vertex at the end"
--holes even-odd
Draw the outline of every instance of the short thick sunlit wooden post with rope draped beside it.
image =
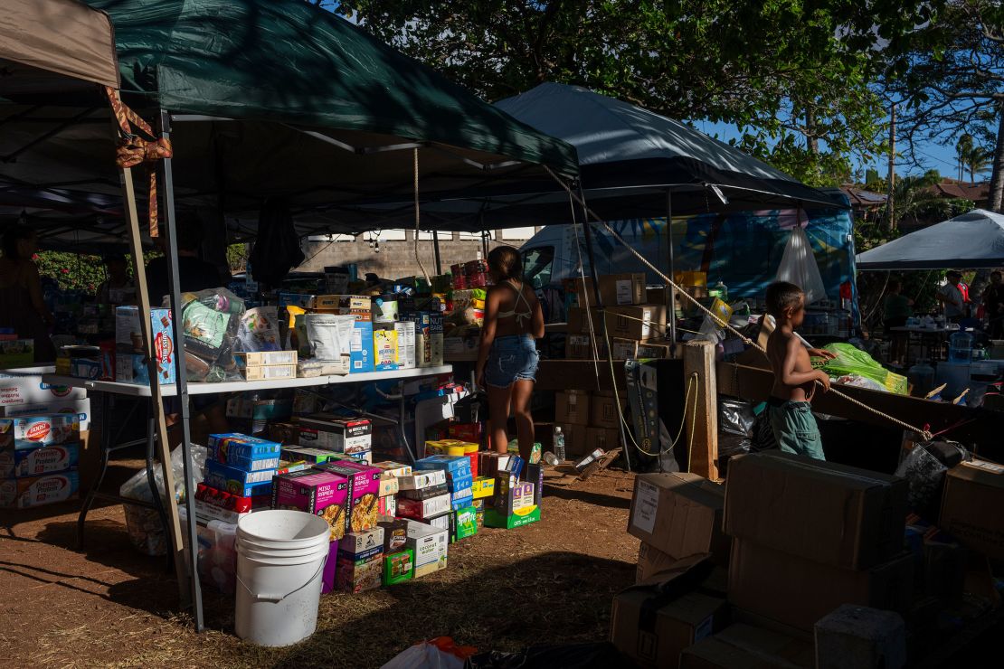
POLYGON ((716 371, 715 344, 692 341, 684 346, 684 385, 690 389, 690 401, 684 407, 689 450, 688 470, 711 480, 718 479, 716 371))

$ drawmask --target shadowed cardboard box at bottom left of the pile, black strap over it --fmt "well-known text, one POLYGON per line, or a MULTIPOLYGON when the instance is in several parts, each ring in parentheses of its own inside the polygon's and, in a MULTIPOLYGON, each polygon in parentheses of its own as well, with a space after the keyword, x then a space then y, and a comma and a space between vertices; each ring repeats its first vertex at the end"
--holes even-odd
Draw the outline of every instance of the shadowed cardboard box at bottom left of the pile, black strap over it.
POLYGON ((610 641, 641 667, 679 667, 680 655, 725 626, 726 602, 700 593, 666 601, 652 586, 613 598, 610 641))

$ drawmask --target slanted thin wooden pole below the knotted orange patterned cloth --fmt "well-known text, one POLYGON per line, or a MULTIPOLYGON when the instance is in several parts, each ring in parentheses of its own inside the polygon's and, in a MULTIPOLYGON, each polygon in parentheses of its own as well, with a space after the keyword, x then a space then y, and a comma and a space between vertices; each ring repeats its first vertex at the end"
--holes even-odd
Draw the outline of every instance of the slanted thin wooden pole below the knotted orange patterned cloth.
POLYGON ((136 296, 140 303, 140 330, 143 332, 144 350, 147 352, 148 373, 150 375, 150 401, 157 420, 157 450, 161 457, 164 473, 164 489, 167 493, 168 532, 175 552, 175 574, 178 577, 178 593, 182 606, 191 604, 191 586, 185 561, 185 544, 182 541, 182 525, 178 516, 178 501, 175 499, 175 476, 171 470, 171 444, 168 443, 168 426, 164 417, 164 402, 161 399, 160 374, 154 356, 154 333, 150 322, 150 298, 147 295, 147 268, 143 264, 143 241, 140 236, 140 217, 136 208, 136 190, 133 186, 133 171, 120 169, 122 184, 122 204, 129 224, 130 252, 133 256, 133 275, 136 277, 136 296))

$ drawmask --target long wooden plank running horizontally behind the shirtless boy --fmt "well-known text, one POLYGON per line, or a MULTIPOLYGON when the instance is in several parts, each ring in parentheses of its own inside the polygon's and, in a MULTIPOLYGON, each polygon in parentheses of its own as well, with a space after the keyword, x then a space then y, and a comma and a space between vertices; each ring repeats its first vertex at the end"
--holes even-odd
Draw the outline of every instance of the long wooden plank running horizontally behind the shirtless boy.
MULTIPOLYGON (((774 375, 769 369, 737 365, 730 362, 718 363, 717 376, 719 392, 754 402, 766 401, 774 383, 774 375)), ((933 432, 939 432, 971 420, 972 422, 953 428, 944 438, 960 441, 967 445, 975 443, 980 447, 980 452, 992 459, 999 459, 1004 452, 999 443, 1000 430, 995 427, 994 417, 996 414, 993 411, 956 406, 949 402, 932 402, 919 397, 895 395, 866 388, 839 386, 838 389, 849 397, 917 427, 930 424, 933 432)), ((817 392, 812 400, 812 408, 819 413, 857 420, 871 425, 888 427, 893 424, 887 418, 865 411, 856 404, 833 394, 817 392)))

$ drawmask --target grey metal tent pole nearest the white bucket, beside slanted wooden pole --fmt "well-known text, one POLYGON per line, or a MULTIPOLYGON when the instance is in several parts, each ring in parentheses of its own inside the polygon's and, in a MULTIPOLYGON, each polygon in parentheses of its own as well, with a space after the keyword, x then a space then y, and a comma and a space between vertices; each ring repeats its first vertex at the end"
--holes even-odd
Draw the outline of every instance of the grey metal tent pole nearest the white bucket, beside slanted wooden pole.
MULTIPOLYGON (((166 139, 171 138, 171 114, 161 109, 160 130, 166 139)), ((182 290, 181 278, 178 275, 178 228, 175 216, 175 182, 172 173, 171 158, 161 160, 164 178, 164 210, 167 221, 167 245, 165 254, 168 259, 168 281, 171 286, 171 326, 175 339, 175 387, 178 389, 178 401, 182 412, 182 453, 185 461, 185 507, 188 511, 188 561, 192 575, 192 611, 195 617, 195 629, 202 632, 205 629, 202 612, 202 588, 199 584, 197 522, 195 518, 195 490, 192 482, 192 434, 189 429, 188 380, 185 371, 185 335, 182 330, 182 290)), ((170 490, 169 490, 170 493, 170 490)))

